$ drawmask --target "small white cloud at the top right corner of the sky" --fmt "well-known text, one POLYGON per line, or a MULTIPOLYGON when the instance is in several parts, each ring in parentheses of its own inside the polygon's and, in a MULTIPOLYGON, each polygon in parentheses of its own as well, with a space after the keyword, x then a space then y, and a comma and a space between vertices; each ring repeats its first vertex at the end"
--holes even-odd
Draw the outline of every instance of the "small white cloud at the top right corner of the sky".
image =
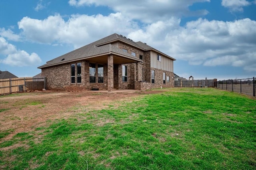
POLYGON ((222 0, 221 5, 228 8, 230 12, 243 12, 243 7, 250 5, 250 2, 246 0, 222 0))

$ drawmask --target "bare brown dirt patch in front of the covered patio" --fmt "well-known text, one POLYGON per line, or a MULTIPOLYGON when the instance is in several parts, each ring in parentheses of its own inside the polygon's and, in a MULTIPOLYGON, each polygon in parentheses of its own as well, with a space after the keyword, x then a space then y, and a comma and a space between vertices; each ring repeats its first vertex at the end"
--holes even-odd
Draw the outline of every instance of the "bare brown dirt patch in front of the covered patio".
MULTIPOLYGON (((134 97, 162 91, 134 93, 102 92, 31 92, 0 97, 0 132, 10 132, 1 141, 17 133, 29 132, 56 119, 70 118, 72 114, 118 106, 120 102, 131 102, 134 97)), ((112 120, 109 120, 110 122, 112 120)))

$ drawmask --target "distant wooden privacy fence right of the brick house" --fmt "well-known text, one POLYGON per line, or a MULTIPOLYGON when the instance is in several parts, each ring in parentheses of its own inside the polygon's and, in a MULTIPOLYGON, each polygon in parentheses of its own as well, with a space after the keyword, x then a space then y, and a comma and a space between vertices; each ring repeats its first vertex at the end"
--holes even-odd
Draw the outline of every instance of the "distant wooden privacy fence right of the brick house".
POLYGON ((212 80, 175 80, 174 87, 217 87, 217 79, 212 80))

